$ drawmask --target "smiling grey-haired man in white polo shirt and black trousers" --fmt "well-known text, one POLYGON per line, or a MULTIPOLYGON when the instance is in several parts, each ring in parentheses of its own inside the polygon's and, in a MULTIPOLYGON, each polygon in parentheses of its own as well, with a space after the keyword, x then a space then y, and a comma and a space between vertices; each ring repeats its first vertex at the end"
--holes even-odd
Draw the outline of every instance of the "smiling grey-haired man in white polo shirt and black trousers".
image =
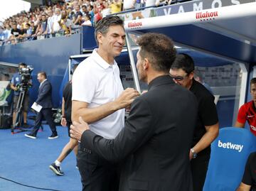
MULTIPOLYGON (((123 21, 117 16, 102 18, 95 27, 95 38, 99 48, 78 65, 73 75, 72 121, 79 121, 81 116, 91 131, 111 139, 124 127, 124 108, 139 92, 123 89, 114 61, 125 43, 123 21)), ((80 146, 78 168, 82 191, 118 190, 117 164, 80 146)))

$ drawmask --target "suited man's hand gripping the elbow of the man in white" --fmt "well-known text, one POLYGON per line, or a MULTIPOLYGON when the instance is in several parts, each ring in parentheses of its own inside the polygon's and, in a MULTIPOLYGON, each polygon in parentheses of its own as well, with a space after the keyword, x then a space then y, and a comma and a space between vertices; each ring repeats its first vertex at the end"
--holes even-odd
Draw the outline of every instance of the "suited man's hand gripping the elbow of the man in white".
POLYGON ((74 121, 73 125, 70 126, 70 136, 78 141, 81 141, 82 133, 86 130, 90 130, 90 127, 80 116, 79 122, 74 121))

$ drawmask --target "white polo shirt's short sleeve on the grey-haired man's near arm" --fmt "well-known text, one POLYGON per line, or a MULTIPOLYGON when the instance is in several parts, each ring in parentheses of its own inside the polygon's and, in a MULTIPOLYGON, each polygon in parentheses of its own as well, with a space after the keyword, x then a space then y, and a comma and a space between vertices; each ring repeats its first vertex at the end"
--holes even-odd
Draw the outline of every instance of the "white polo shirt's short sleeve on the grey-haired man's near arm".
POLYGON ((80 63, 72 78, 72 100, 90 104, 95 95, 97 78, 92 68, 85 67, 87 63, 80 63))

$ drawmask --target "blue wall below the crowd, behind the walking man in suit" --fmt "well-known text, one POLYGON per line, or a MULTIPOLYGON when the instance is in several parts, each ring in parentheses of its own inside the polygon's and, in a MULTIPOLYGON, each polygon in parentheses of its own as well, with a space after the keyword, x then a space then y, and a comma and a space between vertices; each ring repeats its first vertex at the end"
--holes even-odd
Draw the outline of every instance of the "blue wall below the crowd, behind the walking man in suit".
POLYGON ((30 89, 31 103, 38 95, 39 82, 37 72, 45 71, 53 85, 53 106, 60 106, 60 84, 65 74, 70 55, 81 53, 81 35, 61 36, 44 40, 33 40, 16 45, 0 46, 0 61, 26 62, 34 67, 33 87, 30 89))

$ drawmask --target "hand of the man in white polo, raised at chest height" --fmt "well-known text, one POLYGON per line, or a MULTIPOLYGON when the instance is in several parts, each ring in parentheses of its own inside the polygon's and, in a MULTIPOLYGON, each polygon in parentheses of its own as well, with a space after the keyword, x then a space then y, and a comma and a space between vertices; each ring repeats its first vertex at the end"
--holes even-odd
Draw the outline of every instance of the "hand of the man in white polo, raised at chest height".
POLYGON ((129 107, 134 99, 139 95, 140 94, 136 89, 127 88, 119 95, 119 97, 117 97, 116 100, 114 100, 114 102, 117 104, 118 109, 123 109, 129 107))

